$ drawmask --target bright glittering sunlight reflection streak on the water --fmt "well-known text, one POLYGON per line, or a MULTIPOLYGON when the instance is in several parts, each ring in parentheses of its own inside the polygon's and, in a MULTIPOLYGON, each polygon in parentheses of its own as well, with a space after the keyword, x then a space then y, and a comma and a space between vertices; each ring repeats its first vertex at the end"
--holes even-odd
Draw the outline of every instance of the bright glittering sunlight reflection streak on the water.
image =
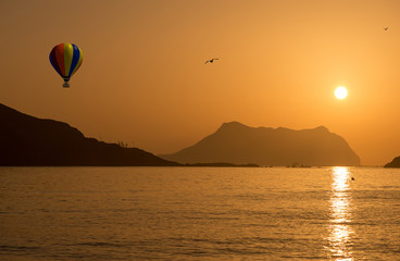
POLYGON ((350 181, 348 167, 335 166, 333 169, 330 222, 327 240, 329 257, 337 261, 354 260, 351 249, 351 238, 354 232, 350 226, 352 222, 350 181))

